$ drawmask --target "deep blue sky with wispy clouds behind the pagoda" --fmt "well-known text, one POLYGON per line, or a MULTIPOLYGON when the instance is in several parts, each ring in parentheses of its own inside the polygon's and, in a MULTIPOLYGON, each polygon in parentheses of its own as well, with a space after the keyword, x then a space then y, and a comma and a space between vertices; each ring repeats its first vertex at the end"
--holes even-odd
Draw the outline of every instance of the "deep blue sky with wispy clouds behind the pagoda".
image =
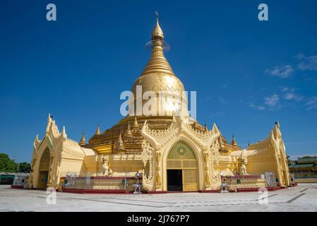
POLYGON ((121 115, 150 57, 160 13, 165 54, 201 124, 246 147, 279 120, 287 154, 317 154, 317 1, 1 1, 0 152, 30 161, 47 115, 90 138, 121 115), (46 20, 56 4, 57 20, 46 20), (269 21, 258 20, 258 4, 269 21))

